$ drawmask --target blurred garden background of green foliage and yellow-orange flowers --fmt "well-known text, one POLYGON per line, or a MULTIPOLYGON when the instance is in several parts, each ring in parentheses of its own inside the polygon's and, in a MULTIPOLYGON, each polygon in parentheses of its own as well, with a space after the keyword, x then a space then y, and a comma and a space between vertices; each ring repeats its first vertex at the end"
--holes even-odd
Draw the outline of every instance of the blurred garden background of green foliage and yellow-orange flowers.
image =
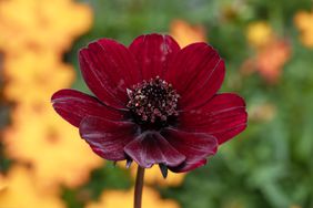
POLYGON ((221 91, 246 100, 249 127, 209 164, 162 179, 143 208, 313 208, 313 1, 0 0, 0 208, 131 208, 134 165, 95 156, 52 110, 89 92, 78 50, 151 32, 205 41, 226 63, 221 91))

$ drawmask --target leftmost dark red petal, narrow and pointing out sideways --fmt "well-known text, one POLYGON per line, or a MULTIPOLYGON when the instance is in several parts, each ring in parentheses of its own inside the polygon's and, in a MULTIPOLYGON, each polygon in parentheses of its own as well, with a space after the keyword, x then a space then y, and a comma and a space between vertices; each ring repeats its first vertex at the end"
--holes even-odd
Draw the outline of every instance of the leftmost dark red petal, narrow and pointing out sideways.
POLYGON ((82 118, 89 115, 119 121, 123 114, 117 110, 109 108, 98 98, 74 90, 61 90, 51 97, 52 105, 70 124, 79 127, 82 118))

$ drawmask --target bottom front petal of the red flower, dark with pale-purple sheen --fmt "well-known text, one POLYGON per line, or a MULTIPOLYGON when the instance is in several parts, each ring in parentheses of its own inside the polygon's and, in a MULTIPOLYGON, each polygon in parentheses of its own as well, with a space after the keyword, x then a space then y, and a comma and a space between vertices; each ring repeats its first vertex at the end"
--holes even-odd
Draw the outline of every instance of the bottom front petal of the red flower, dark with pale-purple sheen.
POLYGON ((145 168, 154 164, 178 166, 185 159, 159 132, 144 132, 128 144, 124 152, 145 168))

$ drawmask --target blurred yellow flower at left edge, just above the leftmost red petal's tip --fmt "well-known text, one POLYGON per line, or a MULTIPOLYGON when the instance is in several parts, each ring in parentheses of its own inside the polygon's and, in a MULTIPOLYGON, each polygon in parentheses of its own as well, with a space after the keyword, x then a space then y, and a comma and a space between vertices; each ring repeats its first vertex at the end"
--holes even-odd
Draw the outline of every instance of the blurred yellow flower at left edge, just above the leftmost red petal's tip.
POLYGON ((3 74, 4 97, 21 105, 47 103, 54 91, 74 80, 72 66, 62 63, 60 56, 32 51, 7 55, 3 74))

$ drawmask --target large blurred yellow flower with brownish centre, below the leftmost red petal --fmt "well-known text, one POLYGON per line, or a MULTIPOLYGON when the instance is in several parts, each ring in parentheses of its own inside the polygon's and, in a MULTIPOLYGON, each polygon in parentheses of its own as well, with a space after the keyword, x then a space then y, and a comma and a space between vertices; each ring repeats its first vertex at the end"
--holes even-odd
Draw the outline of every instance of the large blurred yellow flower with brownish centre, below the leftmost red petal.
POLYGON ((13 112, 13 125, 3 134, 8 157, 30 163, 38 183, 43 187, 77 187, 102 165, 75 129, 61 119, 47 104, 42 108, 13 112))

